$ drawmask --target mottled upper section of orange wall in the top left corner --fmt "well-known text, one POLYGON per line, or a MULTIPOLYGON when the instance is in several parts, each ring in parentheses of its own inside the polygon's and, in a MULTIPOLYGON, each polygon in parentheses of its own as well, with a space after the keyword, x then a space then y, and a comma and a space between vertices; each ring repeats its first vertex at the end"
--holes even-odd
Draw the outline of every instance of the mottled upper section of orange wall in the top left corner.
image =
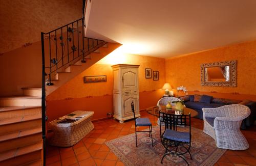
POLYGON ((49 32, 81 17, 82 1, 1 0, 0 53, 39 41, 41 32, 49 32))

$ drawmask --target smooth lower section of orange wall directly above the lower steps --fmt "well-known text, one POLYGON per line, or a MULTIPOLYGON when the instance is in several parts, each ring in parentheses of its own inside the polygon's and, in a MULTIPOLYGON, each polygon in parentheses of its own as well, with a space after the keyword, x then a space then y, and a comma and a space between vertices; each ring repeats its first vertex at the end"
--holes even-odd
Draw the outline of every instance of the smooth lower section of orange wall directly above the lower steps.
POLYGON ((20 95, 25 87, 41 87, 41 63, 41 42, 0 56, 0 96, 20 95))

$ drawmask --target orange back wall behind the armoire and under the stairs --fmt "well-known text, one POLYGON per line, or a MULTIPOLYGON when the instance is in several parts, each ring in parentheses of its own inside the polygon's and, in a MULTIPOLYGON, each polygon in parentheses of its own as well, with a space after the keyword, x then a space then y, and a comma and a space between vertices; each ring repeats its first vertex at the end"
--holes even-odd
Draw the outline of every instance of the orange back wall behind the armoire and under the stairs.
MULTIPOLYGON (((115 52, 115 51, 114 51, 115 52)), ((106 117, 106 113, 113 112, 113 75, 111 65, 123 63, 140 65, 139 92, 140 109, 156 105, 163 95, 162 86, 165 83, 165 60, 133 54, 109 54, 101 61, 91 66, 75 78, 61 86, 47 97, 47 115, 49 122, 60 116, 71 113, 73 110, 93 110, 93 119, 106 117), (110 64, 110 61, 113 61, 110 64), (145 68, 159 71, 159 80, 145 78, 145 68), (84 84, 84 76, 106 75, 106 82, 84 84)))

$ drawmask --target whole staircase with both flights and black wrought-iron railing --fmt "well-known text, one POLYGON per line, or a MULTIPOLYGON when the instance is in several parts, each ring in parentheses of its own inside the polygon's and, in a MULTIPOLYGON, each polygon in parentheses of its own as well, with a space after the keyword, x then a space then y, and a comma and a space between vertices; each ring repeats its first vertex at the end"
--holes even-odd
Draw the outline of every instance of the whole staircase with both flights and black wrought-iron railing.
POLYGON ((41 33, 41 88, 0 97, 0 165, 45 165, 46 96, 121 45, 84 37, 88 17, 41 33))

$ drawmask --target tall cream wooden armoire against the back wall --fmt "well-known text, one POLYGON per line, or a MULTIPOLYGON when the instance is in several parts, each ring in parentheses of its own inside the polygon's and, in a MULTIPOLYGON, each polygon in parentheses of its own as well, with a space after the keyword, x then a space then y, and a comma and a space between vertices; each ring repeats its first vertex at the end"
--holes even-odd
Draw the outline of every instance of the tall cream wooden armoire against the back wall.
POLYGON ((113 69, 114 115, 120 123, 134 118, 131 103, 134 102, 135 116, 140 117, 139 109, 139 65, 118 64, 113 69))

